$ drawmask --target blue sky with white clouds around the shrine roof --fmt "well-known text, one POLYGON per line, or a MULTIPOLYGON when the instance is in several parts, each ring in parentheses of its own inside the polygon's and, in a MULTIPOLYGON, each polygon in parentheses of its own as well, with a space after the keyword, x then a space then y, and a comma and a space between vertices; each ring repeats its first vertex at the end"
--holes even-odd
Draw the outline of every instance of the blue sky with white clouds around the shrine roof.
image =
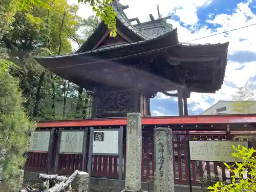
MULTIPOLYGON (((68 0, 76 3, 77 0, 68 0)), ((129 5, 125 10, 129 18, 138 17, 141 22, 150 20, 149 14, 157 18, 157 4, 162 16, 172 15, 168 20, 178 29, 180 42, 209 36, 215 33, 240 28, 256 23, 256 0, 120 0, 129 5)), ((93 14, 87 5, 79 7, 80 16, 93 14)), ((189 115, 198 115, 219 100, 230 100, 237 87, 247 80, 256 89, 256 27, 216 35, 193 41, 194 44, 217 44, 229 41, 228 62, 222 89, 216 94, 191 93, 188 99, 189 115)), ((151 99, 154 116, 178 115, 176 98, 158 94, 151 99)))

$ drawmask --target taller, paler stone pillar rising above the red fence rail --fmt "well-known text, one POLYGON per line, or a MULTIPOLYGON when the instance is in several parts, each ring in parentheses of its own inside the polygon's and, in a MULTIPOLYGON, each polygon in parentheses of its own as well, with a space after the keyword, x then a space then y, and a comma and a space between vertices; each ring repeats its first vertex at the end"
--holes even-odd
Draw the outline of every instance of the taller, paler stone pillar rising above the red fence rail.
POLYGON ((125 191, 141 191, 141 114, 127 114, 125 191))

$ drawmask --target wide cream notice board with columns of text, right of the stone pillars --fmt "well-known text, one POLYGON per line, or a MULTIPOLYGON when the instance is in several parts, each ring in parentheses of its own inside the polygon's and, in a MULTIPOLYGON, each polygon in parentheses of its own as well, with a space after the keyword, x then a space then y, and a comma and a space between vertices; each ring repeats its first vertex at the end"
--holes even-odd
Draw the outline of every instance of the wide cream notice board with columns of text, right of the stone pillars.
POLYGON ((193 161, 219 161, 219 162, 241 162, 234 158, 235 151, 232 145, 242 145, 248 148, 248 141, 189 141, 190 160, 193 161))

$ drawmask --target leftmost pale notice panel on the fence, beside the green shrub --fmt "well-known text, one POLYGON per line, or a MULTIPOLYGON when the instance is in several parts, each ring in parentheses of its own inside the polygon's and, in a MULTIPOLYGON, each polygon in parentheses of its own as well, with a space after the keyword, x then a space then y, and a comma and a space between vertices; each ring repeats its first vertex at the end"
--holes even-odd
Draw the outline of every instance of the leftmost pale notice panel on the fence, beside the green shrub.
POLYGON ((51 131, 31 132, 29 151, 47 153, 51 131))

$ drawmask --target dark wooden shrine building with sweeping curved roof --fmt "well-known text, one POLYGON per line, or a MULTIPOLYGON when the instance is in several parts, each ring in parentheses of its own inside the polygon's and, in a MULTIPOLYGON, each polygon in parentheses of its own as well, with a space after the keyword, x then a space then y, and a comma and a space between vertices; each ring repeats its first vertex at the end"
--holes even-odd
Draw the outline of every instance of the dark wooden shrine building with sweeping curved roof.
POLYGON ((191 92, 221 89, 228 42, 189 45, 178 40, 177 29, 159 17, 140 23, 127 18, 114 1, 117 35, 101 22, 73 54, 40 57, 40 65, 93 93, 92 118, 150 116, 150 98, 162 92, 178 97, 179 115, 188 115, 191 92), (168 93, 173 92, 173 93, 168 93))

